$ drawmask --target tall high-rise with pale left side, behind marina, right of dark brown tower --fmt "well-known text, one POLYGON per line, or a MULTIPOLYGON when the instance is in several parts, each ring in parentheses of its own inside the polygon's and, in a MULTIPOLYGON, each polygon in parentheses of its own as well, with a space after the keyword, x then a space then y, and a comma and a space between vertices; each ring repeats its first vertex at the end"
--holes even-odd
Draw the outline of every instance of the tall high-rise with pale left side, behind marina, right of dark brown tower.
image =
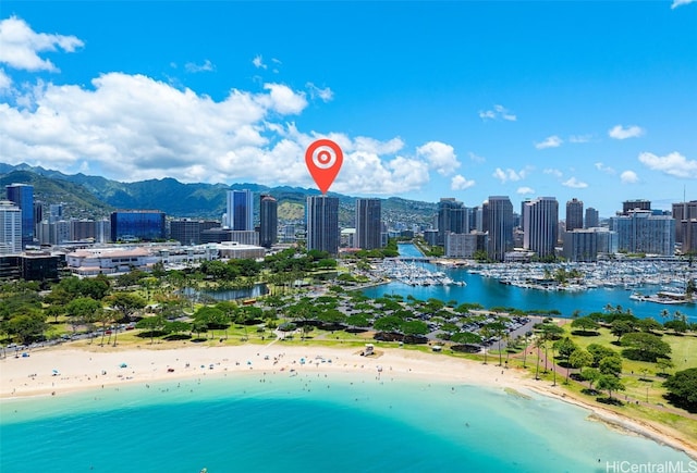
MULTIPOLYGON (((566 207, 568 209, 568 206, 566 207)), ((559 235, 559 203, 553 197, 539 197, 523 208, 523 248, 540 258, 553 257, 559 235)))

